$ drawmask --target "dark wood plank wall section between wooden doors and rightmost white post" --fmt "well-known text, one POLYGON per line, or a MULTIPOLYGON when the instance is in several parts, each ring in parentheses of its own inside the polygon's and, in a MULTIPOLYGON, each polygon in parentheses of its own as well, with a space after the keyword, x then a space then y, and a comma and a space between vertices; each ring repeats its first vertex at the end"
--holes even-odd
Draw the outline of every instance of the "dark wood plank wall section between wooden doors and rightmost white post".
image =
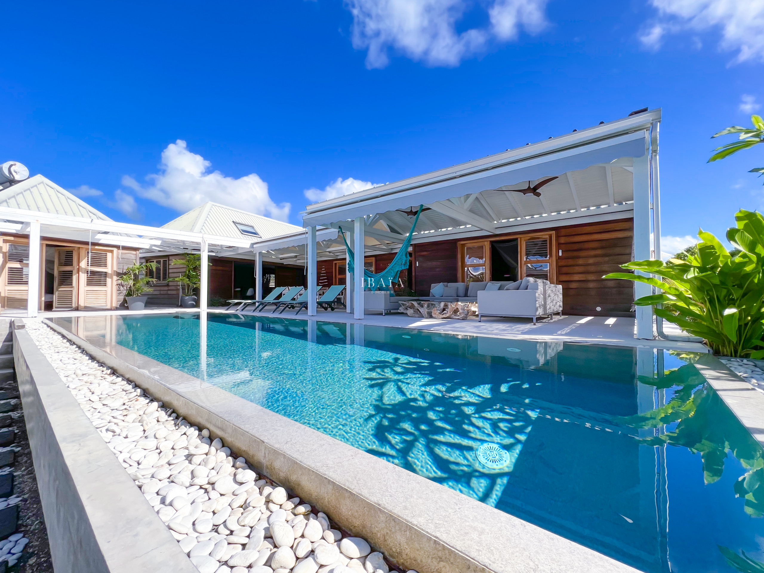
POLYGON ((588 316, 634 316, 633 283, 603 280, 631 261, 633 220, 620 219, 557 229, 557 282, 562 312, 588 316), (597 306, 601 310, 597 310, 597 306))

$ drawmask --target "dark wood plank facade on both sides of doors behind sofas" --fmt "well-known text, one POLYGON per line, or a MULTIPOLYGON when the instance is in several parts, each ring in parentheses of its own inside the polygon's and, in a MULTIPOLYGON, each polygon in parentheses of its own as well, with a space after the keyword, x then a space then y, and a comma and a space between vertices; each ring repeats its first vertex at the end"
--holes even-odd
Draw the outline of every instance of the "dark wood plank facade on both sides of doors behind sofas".
MULTIPOLYGON (((602 279, 605 274, 623 270, 620 265, 632 260, 633 219, 539 229, 524 235, 543 233, 552 235, 550 277, 562 285, 565 314, 634 316, 632 283, 602 279)), ((517 235, 492 235, 481 240, 500 241, 517 235)), ((460 242, 465 241, 450 239, 413 245, 413 290, 417 296, 427 296, 435 283, 460 282, 460 242)))

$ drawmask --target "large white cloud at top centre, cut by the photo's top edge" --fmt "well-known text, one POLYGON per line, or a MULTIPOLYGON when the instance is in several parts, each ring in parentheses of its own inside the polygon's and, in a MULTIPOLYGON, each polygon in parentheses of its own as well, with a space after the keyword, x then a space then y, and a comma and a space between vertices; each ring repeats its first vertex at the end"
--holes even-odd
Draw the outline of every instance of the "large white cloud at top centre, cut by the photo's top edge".
POLYGON ((547 0, 487 0, 488 24, 458 33, 468 0, 345 0, 353 15, 353 47, 368 50, 366 66, 384 68, 393 49, 429 66, 457 66, 485 50, 490 40, 515 40, 524 28, 536 34, 546 25, 547 0))

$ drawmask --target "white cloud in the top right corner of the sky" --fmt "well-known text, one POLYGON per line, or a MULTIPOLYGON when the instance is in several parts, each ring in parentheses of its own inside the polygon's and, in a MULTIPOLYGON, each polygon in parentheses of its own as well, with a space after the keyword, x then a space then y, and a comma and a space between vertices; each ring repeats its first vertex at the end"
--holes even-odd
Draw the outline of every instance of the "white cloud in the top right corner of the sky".
POLYGON ((659 47, 668 32, 720 28, 720 47, 736 50, 736 62, 764 61, 764 0, 650 0, 659 21, 640 35, 647 47, 659 47))

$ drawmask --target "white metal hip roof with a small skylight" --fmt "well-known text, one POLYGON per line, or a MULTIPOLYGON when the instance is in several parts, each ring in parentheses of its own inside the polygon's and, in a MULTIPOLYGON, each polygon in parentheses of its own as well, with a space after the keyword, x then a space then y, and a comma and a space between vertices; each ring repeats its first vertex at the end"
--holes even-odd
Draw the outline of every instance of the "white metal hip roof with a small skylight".
POLYGON ((173 221, 170 221, 166 225, 162 225, 162 228, 193 231, 195 233, 217 235, 219 237, 250 238, 251 241, 257 240, 257 238, 251 235, 244 235, 241 233, 234 223, 251 225, 260 234, 262 239, 278 237, 280 235, 290 235, 296 232, 305 232, 302 227, 298 227, 297 225, 290 225, 290 223, 277 221, 276 219, 269 219, 263 215, 255 215, 251 212, 234 209, 233 207, 220 205, 219 203, 211 201, 180 215, 177 219, 173 219, 173 221))

